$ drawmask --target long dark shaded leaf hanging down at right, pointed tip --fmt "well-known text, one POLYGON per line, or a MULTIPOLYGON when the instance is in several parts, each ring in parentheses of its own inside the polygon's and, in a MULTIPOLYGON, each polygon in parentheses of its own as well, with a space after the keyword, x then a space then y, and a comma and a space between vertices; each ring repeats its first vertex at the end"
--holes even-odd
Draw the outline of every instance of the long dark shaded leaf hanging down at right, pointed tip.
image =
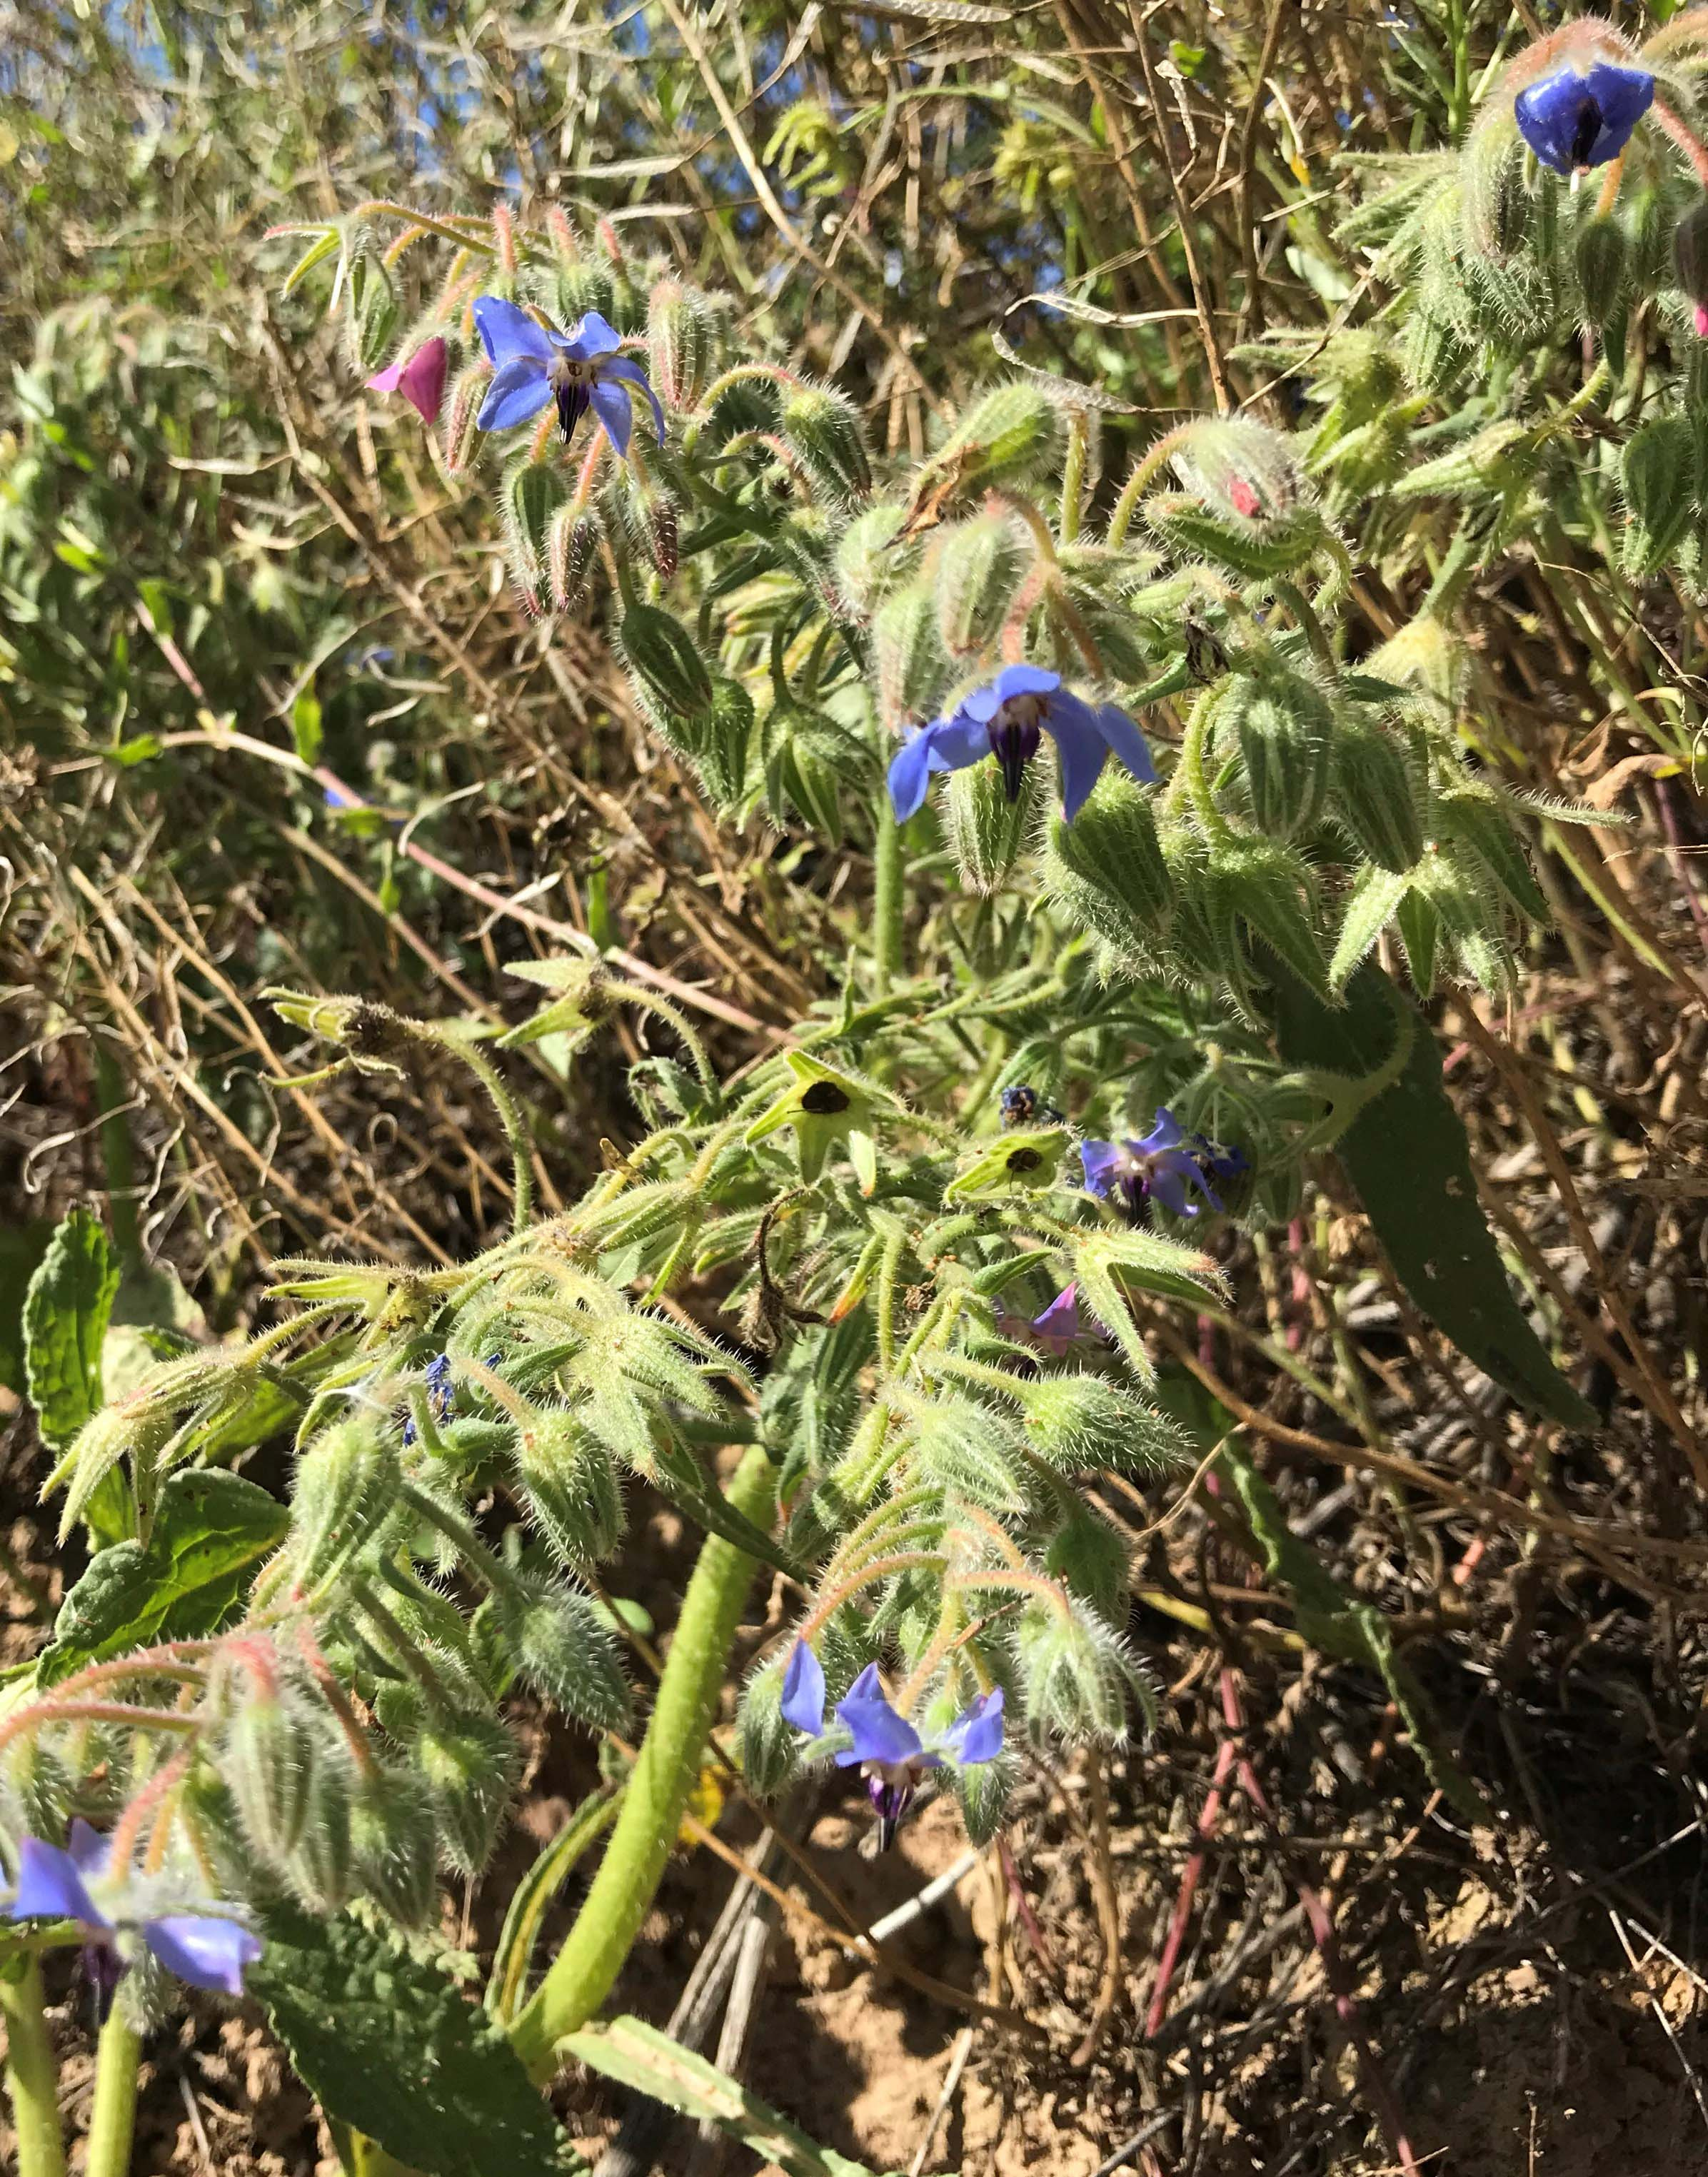
MULTIPOLYGON (((1282 1056, 1353 1080, 1382 1069, 1397 1008, 1410 1006, 1373 964, 1351 977, 1338 1012, 1279 964, 1273 984, 1282 1056)), ((1554 1367, 1512 1297, 1477 1202, 1464 1126, 1440 1084, 1440 1051, 1421 1021, 1399 1080, 1364 1104, 1334 1147, 1395 1276, 1429 1321, 1532 1413, 1595 1428, 1595 1411, 1554 1367)))

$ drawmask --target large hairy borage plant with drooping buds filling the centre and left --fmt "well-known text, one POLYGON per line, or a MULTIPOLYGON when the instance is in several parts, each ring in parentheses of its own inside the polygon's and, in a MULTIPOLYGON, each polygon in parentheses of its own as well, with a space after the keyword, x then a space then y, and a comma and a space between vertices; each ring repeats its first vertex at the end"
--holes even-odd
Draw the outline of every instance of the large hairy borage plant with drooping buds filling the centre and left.
MULTIPOLYGON (((1543 122, 1599 157, 1582 118, 1543 122)), ((1190 1437, 1151 1356, 1175 1311, 1214 1321, 1234 1226, 1288 1217, 1336 1147, 1434 1324, 1584 1419, 1377 964, 1421 995, 1506 986, 1545 912, 1525 808, 1464 758, 1432 607, 1347 662, 1347 549, 1262 422, 1186 422, 1103 492, 1103 396, 1023 368, 879 475, 842 394, 733 348, 714 298, 611 229, 366 205, 292 285, 320 263, 357 368, 442 433, 448 477, 492 477, 537 638, 609 612, 722 819, 851 840, 870 899, 838 999, 725 1075, 601 958, 520 971, 542 1001, 500 1045, 574 1049, 646 1008, 679 1049, 633 1069, 646 1132, 557 1215, 487 1028, 274 993, 324 1056, 298 1086, 383 1093, 424 1049, 474 1071, 516 1226, 459 1269, 281 1263, 272 1328, 159 1332, 102 1406, 113 1269, 87 1215, 61 1230, 30 1385, 94 1557, 0 1720, 22 2177, 65 2166, 39 1975, 61 1946, 91 1951, 107 2005, 89 2177, 126 2166, 174 1975, 246 1977, 350 2170, 559 2166, 535 2086, 566 2059, 818 2168, 709 2066, 596 2025, 696 1781, 714 1761, 770 1800, 829 1761, 862 1772, 879 1842, 927 1792, 981 1842, 1027 1746, 1094 1757, 1151 1720, 1092 1485, 1214 1461, 1223 1533, 1277 1548, 1245 1454, 1190 1437), (398 337, 400 268, 435 242, 442 285, 398 337), (233 1472, 279 1437, 285 1504, 233 1472), (707 1537, 638 1750, 598 1589, 631 1478, 707 1537), (794 1615, 725 1742, 759 1565, 794 1615), (440 1874, 487 1864, 518 1689, 603 1733, 609 1781, 518 1887, 474 2009, 433 1938, 440 1874)), ((1353 1615, 1475 1805, 1377 1613, 1353 1615)))

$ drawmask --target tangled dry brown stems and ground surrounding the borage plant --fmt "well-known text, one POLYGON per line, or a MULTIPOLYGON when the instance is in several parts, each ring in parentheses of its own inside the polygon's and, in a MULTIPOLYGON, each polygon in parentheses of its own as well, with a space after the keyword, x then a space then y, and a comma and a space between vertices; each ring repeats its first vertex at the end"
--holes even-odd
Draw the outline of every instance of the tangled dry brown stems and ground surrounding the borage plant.
MULTIPOLYGON (((661 0, 642 63, 574 7, 405 26, 185 4, 148 11, 159 35, 0 15, 13 1315, 44 1221, 78 1200, 133 1223, 213 1332, 252 1317, 279 1254, 450 1263, 503 1228, 470 1082, 429 1060, 383 1095, 272 1088, 302 1051, 270 982, 513 1021, 529 991, 505 969, 579 932, 692 1006, 733 1071, 829 1004, 870 901, 866 845, 716 821, 598 610, 518 610, 479 499, 381 444, 331 335, 276 300, 270 224, 326 213, 333 176, 403 194, 400 168, 461 209, 520 187, 618 235, 646 220, 738 320, 833 372, 879 446, 918 453, 940 403, 1001 368, 1001 333, 1103 388, 1118 483, 1158 420, 1223 392, 1299 420, 1236 350, 1382 300, 1325 237, 1327 159, 1349 128, 1440 139, 1464 120, 1453 54, 1508 28, 1469 0, 1419 7, 1403 39, 1375 4, 1316 0, 990 17, 661 0), (1316 276, 1334 263, 1338 287, 1316 276), (407 825, 329 808, 337 779, 407 825)), ((1412 618, 1449 536, 1421 505, 1353 544, 1356 642, 1412 618)), ((962 1861, 949 1809, 868 1864, 833 1800, 772 1809, 772 1842, 725 1779, 716 1842, 685 1846, 622 1983, 877 2168, 1349 2177, 1390 2166, 1384 2133, 1466 2177, 1708 2160, 1708 827, 1673 753, 1708 627, 1667 579, 1612 583, 1580 533, 1482 566, 1458 625, 1482 760, 1627 816, 1540 838, 1554 932, 1503 1008, 1432 1008, 1508 1265, 1601 1426, 1538 1424, 1453 1356, 1327 1158, 1290 1228, 1218 1239, 1225 1311, 1147 1330, 1203 1441, 1232 1417, 1292 1535, 1399 1628, 1484 1807, 1429 1783, 1382 1678, 1325 1646, 1279 1563, 1253 1583, 1214 1493, 1105 1483, 1166 1685, 1153 1739, 1036 1768, 1001 1844, 879 1959, 853 1933, 962 1861)), ((635 1139, 644 1056, 618 1019, 572 1073, 511 1060, 548 1206, 635 1139)), ((731 1335, 716 1282, 677 1297, 731 1335)), ((0 1358, 17 1661, 78 1565, 39 1524, 46 1456, 0 1358)), ((638 1513, 611 1587, 668 1635, 685 1561, 674 1515, 638 1513)), ((537 1729, 518 1861, 587 1759, 537 1729)), ((470 1894, 461 1933, 479 1946, 490 1918, 470 1894)), ((70 2051, 70 2009, 59 2031, 70 2051)), ((191 2016, 150 2064, 137 2168, 315 2168, 311 2105, 250 2027, 191 2016)), ((614 2090, 561 2105, 611 2177, 648 2166, 614 2090)))

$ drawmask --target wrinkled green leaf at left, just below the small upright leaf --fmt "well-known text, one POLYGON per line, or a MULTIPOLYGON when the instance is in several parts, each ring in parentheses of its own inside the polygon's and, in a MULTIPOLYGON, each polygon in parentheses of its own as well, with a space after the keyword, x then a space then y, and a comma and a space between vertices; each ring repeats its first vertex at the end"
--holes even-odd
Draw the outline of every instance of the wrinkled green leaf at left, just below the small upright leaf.
POLYGON ((285 1506, 237 1474, 174 1474, 161 1489, 148 1548, 120 1541, 98 1550, 65 1596, 37 1685, 46 1689, 85 1663, 154 1639, 213 1633, 242 1598, 248 1567, 287 1526, 285 1506))

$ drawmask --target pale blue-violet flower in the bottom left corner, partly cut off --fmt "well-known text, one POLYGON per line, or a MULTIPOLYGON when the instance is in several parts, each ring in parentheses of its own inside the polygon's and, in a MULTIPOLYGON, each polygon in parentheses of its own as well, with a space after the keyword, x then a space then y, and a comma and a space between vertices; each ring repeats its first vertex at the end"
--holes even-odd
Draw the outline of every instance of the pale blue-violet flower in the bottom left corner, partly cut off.
POLYGON ((220 1911, 126 1911, 126 1870, 111 1868, 111 1844, 87 1822, 72 1822, 70 1850, 24 1837, 17 1848, 17 1890, 2 1907, 7 1920, 76 1920, 83 1929, 83 1961, 111 2003, 124 1968, 141 1942, 191 1988, 242 1996, 244 1966, 261 1955, 261 1938, 220 1911), (94 1883, 94 1892, 91 1885, 94 1883), (111 1909, 96 1901, 96 1892, 111 1909))

